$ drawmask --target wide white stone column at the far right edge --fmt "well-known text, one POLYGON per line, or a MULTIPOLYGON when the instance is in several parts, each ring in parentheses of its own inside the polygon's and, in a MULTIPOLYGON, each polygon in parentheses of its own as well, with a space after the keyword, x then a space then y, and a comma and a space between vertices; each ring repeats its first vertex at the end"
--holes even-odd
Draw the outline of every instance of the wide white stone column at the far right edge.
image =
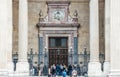
POLYGON ((120 0, 110 0, 109 77, 120 77, 120 0))

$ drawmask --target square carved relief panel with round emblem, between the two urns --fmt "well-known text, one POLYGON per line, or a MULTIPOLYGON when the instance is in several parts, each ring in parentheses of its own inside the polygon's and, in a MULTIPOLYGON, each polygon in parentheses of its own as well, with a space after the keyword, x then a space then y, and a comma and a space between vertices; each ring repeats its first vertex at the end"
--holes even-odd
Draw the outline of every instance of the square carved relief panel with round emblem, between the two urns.
POLYGON ((48 1, 48 20, 50 22, 66 22, 70 2, 48 1))

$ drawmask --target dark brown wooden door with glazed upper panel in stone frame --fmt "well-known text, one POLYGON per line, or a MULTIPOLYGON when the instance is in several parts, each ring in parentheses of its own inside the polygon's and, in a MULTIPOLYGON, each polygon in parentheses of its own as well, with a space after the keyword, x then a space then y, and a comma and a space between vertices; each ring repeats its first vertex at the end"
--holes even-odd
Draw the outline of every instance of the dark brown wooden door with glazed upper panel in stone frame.
POLYGON ((67 37, 49 37, 49 66, 52 64, 68 65, 67 37))

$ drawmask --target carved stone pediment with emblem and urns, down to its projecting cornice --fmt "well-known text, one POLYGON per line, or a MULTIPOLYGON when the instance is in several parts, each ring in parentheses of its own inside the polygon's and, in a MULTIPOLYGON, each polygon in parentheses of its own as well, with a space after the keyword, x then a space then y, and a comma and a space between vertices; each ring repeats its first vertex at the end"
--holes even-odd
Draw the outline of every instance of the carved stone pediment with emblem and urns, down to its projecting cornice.
MULTIPOLYGON (((40 11, 39 23, 37 26, 66 26, 66 27, 78 27, 77 16, 71 17, 69 15, 69 1, 47 1, 48 15, 41 18, 42 12, 40 11)), ((77 14, 77 11, 75 12, 77 14)))

